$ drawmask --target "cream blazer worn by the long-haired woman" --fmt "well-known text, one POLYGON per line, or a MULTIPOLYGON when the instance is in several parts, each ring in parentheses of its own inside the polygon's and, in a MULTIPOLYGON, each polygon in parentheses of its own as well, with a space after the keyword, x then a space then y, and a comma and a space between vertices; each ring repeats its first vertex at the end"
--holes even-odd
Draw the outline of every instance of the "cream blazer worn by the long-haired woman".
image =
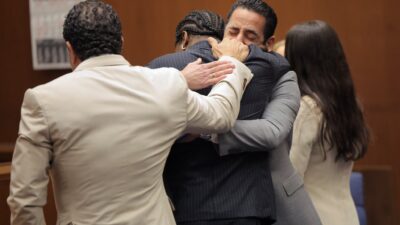
POLYGON ((309 96, 301 99, 294 122, 290 160, 304 177, 304 186, 324 225, 358 225, 350 193, 353 162, 335 161, 337 151, 327 151, 319 142, 322 113, 309 96), (324 153, 326 160, 324 160, 324 153))

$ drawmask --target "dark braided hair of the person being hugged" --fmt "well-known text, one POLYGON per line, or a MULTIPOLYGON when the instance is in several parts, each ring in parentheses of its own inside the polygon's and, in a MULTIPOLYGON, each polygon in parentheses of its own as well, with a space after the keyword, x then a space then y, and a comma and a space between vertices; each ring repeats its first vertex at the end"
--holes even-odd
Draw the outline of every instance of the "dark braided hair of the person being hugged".
POLYGON ((207 35, 222 40, 224 28, 225 22, 219 15, 207 10, 194 10, 176 26, 175 44, 182 41, 184 31, 191 35, 207 35))

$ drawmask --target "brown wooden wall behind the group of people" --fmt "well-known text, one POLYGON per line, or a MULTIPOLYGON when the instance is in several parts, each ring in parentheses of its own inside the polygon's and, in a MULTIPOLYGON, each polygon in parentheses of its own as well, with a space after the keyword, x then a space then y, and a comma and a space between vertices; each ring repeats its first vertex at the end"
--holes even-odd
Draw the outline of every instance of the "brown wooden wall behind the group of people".
MULTIPOLYGON (((173 51, 175 25, 192 9, 225 17, 233 0, 106 0, 119 13, 123 55, 134 65, 173 51)), ((385 171, 376 192, 386 204, 387 221, 400 212, 400 1, 269 0, 279 22, 277 40, 295 23, 321 19, 338 32, 372 129, 373 141, 356 170, 385 171)), ((68 70, 33 71, 28 1, 0 1, 0 161, 9 161, 17 137, 20 105, 27 88, 68 70)), ((378 176, 382 178, 382 176, 378 176)), ((372 198, 372 197, 371 197, 372 198)), ((4 202, 0 204, 4 205, 4 202)), ((381 223, 388 224, 388 223, 381 223)))

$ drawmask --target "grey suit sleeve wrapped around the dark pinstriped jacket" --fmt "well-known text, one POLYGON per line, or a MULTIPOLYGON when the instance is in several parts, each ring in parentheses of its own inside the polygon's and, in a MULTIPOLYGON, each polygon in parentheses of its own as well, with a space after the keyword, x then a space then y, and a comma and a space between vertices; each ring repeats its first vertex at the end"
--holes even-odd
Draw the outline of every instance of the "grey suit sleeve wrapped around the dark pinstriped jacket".
POLYGON ((299 107, 297 77, 290 71, 276 83, 261 119, 238 120, 230 132, 218 136, 219 155, 275 149, 290 134, 299 107))

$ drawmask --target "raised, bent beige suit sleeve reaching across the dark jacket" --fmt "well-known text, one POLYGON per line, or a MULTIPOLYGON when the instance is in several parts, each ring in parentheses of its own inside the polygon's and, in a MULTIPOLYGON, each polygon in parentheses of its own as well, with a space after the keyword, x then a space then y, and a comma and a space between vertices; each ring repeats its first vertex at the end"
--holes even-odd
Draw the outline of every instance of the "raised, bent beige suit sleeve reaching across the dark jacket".
POLYGON ((223 56, 220 60, 233 62, 234 72, 216 84, 208 96, 188 90, 187 133, 227 132, 239 114, 240 100, 253 75, 232 57, 223 56))

